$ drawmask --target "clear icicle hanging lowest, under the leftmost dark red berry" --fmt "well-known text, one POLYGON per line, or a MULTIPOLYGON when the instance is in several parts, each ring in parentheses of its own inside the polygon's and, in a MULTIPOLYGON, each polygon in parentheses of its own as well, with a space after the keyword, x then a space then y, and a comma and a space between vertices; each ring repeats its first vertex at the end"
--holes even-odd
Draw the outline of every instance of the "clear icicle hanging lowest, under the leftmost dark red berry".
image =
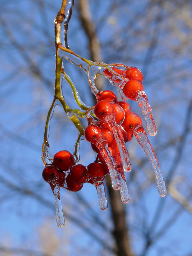
POLYGON ((55 218, 59 228, 65 226, 65 218, 62 210, 59 185, 54 185, 53 194, 55 197, 55 218))

